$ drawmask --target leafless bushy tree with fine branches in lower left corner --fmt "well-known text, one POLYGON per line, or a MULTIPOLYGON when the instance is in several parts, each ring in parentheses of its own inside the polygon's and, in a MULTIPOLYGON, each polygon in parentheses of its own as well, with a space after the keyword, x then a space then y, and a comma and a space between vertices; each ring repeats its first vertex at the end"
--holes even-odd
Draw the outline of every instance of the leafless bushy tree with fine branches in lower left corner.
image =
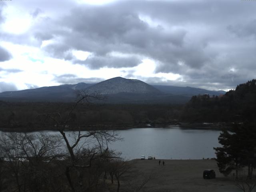
POLYGON ((2 135, 0 148, 6 161, 5 166, 11 173, 9 182, 12 183, 12 176, 14 176, 16 189, 19 192, 41 191, 42 188, 49 191, 48 186, 54 178, 54 172, 51 172, 48 163, 60 145, 60 139, 50 134, 9 133, 2 135))

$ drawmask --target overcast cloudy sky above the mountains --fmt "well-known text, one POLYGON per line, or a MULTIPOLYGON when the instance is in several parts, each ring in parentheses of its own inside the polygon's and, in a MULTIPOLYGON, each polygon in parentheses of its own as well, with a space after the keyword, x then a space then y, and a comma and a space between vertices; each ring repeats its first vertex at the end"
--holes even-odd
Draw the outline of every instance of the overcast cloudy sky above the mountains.
POLYGON ((0 92, 117 76, 230 90, 255 74, 254 0, 0 0, 0 92))

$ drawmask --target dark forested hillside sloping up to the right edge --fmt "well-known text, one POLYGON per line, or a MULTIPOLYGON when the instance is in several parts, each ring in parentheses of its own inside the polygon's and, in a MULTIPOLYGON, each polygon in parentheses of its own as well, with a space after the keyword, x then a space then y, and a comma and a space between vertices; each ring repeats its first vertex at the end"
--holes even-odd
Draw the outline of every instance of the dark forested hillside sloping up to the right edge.
POLYGON ((189 122, 256 121, 256 80, 239 84, 223 96, 193 96, 184 106, 182 120, 189 122))

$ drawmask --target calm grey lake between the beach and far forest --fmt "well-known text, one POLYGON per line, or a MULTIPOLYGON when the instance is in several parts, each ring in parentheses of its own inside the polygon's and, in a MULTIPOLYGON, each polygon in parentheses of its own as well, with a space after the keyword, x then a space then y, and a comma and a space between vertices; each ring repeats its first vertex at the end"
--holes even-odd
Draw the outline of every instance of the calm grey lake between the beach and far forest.
MULTIPOLYGON (((50 132, 52 134, 58 132, 50 132)), ((157 159, 202 159, 215 157, 213 147, 218 147, 220 130, 172 128, 133 128, 118 130, 123 141, 109 145, 122 152, 126 160, 141 155, 157 159)), ((66 134, 68 135, 68 133, 66 134)))

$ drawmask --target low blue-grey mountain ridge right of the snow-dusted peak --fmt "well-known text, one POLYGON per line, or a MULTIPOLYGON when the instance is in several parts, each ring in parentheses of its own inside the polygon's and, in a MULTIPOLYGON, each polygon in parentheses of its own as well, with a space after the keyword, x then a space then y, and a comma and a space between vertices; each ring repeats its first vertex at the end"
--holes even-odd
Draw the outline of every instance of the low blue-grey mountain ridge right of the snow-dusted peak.
POLYGON ((194 88, 194 87, 178 87, 178 86, 164 86, 164 85, 153 85, 154 88, 157 88, 163 93, 166 94, 174 94, 174 95, 183 95, 192 97, 194 95, 203 95, 208 94, 210 96, 212 95, 223 95, 226 92, 225 91, 210 91, 206 89, 200 89, 200 88, 194 88))

